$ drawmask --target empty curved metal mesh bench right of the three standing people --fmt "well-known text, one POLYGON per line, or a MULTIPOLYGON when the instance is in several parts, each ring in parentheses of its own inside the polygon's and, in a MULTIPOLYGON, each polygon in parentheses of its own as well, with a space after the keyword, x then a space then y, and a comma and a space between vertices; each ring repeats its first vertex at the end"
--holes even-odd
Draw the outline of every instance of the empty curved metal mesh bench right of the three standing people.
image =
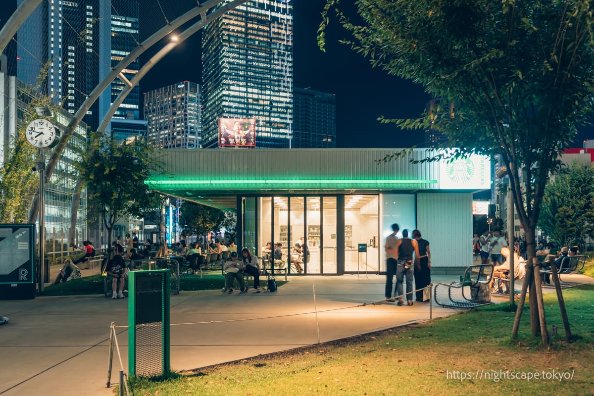
POLYGON ((464 281, 434 284, 434 301, 447 308, 468 309, 490 304, 489 282, 492 275, 492 264, 470 265, 461 278, 464 281), (482 290, 486 295, 481 295, 482 290))

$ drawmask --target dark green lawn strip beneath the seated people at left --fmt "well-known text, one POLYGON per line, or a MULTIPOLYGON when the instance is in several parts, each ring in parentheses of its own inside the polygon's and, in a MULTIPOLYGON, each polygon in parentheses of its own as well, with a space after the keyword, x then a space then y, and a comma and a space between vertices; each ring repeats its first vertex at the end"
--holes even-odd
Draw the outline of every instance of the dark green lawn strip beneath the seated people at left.
MULTIPOLYGON (((261 284, 264 284, 266 278, 261 278, 261 284)), ((277 286, 282 286, 286 281, 277 280, 277 286)), ((206 273, 203 278, 198 275, 186 275, 179 279, 179 289, 182 292, 191 290, 221 290, 225 287, 225 279, 220 271, 206 273)), ((124 289, 128 289, 128 281, 124 284, 124 289)), ((42 293, 37 296, 80 296, 81 294, 103 294, 103 277, 100 274, 88 277, 73 279, 68 282, 46 286, 42 293)))

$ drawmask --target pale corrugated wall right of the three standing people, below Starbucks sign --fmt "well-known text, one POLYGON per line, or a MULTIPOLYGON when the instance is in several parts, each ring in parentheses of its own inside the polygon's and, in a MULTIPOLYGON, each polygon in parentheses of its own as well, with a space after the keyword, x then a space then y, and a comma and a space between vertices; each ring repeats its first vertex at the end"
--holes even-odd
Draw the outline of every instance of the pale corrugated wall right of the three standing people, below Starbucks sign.
POLYGON ((432 267, 472 264, 472 194, 418 194, 416 225, 430 243, 432 267))

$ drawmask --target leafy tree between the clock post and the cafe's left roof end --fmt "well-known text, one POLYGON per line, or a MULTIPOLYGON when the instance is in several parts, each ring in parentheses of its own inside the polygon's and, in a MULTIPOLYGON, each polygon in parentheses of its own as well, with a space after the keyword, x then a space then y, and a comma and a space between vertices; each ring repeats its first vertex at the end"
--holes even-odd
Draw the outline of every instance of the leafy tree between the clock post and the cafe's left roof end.
POLYGON ((135 201, 147 194, 144 181, 160 164, 140 139, 118 142, 103 135, 97 141, 99 149, 87 152, 76 166, 89 188, 89 209, 100 214, 111 246, 113 226, 124 216, 138 215, 135 201))

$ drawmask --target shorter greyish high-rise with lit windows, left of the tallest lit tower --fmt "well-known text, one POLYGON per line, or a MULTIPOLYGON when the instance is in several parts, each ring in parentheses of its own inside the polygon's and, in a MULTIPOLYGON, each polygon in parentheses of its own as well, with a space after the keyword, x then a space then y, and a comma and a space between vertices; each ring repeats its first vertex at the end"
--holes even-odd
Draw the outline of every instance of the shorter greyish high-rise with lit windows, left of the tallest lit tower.
POLYGON ((200 85, 182 81, 144 94, 149 140, 162 148, 200 147, 200 85))

